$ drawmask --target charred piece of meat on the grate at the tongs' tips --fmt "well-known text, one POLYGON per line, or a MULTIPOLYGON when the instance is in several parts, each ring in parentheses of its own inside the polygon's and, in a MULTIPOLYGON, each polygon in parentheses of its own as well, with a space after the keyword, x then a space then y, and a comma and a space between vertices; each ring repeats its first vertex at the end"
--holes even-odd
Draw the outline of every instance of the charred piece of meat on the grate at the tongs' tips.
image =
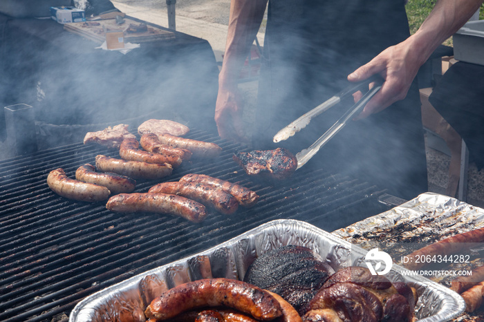
POLYGON ((233 159, 249 176, 264 176, 282 180, 290 177, 297 169, 295 155, 282 148, 239 152, 234 154, 233 159))

